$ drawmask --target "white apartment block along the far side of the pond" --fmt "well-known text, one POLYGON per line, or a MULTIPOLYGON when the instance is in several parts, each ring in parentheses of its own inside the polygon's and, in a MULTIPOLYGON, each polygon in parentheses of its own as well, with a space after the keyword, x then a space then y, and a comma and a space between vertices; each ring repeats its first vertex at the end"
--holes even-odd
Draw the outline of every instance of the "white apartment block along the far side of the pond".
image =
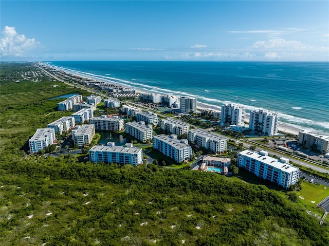
POLYGON ((89 123, 94 124, 96 130, 120 131, 124 129, 124 120, 119 117, 93 117, 90 118, 89 123))

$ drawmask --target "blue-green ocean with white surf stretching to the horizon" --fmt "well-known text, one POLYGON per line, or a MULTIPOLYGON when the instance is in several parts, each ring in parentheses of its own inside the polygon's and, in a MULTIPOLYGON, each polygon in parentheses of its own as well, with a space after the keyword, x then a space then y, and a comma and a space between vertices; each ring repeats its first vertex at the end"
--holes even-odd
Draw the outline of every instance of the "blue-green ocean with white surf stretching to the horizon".
POLYGON ((329 63, 323 62, 48 62, 140 91, 196 97, 247 111, 278 112, 280 122, 329 134, 329 63))

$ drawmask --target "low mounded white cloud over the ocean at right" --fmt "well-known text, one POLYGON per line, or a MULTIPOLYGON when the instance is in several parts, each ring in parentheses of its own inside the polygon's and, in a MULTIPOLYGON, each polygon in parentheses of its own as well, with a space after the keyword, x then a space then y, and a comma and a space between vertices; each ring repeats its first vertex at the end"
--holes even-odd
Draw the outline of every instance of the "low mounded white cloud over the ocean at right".
POLYGON ((284 39, 276 38, 267 41, 257 41, 253 43, 249 49, 306 49, 310 48, 299 41, 286 41, 284 39))

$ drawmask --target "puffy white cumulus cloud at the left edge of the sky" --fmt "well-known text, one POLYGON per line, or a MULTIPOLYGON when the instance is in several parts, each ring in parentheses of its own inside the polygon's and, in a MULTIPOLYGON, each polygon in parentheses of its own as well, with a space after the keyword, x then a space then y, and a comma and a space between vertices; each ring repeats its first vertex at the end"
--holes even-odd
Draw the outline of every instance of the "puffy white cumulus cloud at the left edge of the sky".
POLYGON ((40 42, 27 39, 24 34, 17 33, 15 27, 5 26, 1 32, 1 56, 25 56, 38 47, 41 47, 40 42))

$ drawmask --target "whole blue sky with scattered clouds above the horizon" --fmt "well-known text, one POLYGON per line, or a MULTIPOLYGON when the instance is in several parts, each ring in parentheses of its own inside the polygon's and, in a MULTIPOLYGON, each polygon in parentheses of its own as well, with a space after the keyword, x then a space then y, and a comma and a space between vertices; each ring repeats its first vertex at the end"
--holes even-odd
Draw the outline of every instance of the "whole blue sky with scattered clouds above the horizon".
POLYGON ((329 1, 1 1, 2 61, 328 61, 329 1))

